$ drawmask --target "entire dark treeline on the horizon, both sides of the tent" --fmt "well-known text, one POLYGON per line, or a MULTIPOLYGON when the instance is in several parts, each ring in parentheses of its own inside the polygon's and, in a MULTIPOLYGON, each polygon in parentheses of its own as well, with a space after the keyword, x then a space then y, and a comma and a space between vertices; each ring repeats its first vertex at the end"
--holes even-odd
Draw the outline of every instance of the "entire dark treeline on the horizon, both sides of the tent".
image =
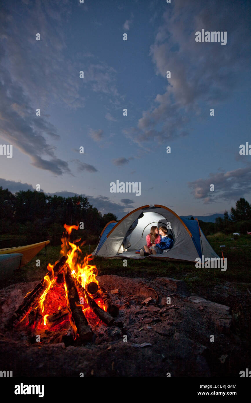
MULTIPOLYGON (((191 219, 194 219, 191 217, 191 219)), ((102 214, 88 202, 88 197, 49 196, 37 191, 19 191, 15 194, 0 187, 0 248, 19 246, 45 241, 59 245, 64 224, 78 225, 83 229, 76 233, 87 244, 97 244, 99 235, 107 222, 118 218, 112 214, 102 214)), ((223 218, 215 222, 199 220, 203 233, 216 232, 247 234, 251 231, 251 206, 243 198, 231 208, 231 214, 224 212, 223 218)))

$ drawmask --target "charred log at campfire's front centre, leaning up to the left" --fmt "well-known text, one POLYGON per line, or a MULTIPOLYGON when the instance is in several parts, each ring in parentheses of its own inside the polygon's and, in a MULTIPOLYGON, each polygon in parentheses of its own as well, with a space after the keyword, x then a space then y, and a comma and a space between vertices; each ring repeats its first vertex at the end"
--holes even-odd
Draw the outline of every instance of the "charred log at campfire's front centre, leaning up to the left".
POLYGON ((79 339, 81 342, 91 341, 93 332, 91 331, 85 315, 83 314, 82 308, 79 305, 79 295, 68 265, 66 265, 66 273, 64 273, 64 282, 66 284, 67 297, 70 305, 69 307, 72 312, 72 318, 77 327, 79 339))

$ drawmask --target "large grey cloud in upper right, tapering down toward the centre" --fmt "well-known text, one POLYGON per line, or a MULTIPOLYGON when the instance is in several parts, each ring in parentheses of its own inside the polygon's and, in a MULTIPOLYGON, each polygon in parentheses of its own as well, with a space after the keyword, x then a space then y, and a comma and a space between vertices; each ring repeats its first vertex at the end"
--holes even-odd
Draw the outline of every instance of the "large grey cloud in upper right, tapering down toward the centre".
POLYGON ((143 111, 137 126, 124 129, 127 137, 142 147, 143 141, 163 143, 184 136, 190 116, 199 115, 204 106, 225 102, 249 67, 247 8, 246 2, 226 8, 216 0, 177 0, 172 11, 164 12, 150 56, 156 75, 167 83, 166 90, 143 111), (196 31, 215 27, 227 31, 226 46, 195 42, 196 31), (167 71, 171 72, 168 79, 167 71))

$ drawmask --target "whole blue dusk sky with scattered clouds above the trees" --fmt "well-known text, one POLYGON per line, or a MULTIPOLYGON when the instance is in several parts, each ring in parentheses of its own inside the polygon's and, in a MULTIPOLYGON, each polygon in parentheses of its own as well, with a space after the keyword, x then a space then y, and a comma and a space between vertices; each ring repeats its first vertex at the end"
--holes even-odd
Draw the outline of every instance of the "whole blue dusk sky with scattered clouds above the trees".
POLYGON ((244 0, 2 1, 0 144, 13 150, 0 186, 82 194, 118 218, 250 203, 250 15, 244 0), (196 42, 203 29, 226 44, 196 42), (110 193, 116 180, 141 195, 110 193))

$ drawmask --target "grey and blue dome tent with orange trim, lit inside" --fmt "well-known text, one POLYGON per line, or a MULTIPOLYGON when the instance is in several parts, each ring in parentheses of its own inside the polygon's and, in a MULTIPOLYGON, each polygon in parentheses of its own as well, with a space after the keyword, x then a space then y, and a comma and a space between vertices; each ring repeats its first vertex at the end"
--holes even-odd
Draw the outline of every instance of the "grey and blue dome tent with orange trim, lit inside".
POLYGON ((166 226, 167 222, 170 222, 168 234, 174 237, 174 245, 169 251, 150 255, 150 258, 169 258, 190 262, 195 262, 196 258, 202 258, 202 255, 205 258, 219 258, 201 231, 197 219, 182 220, 170 208, 158 204, 139 207, 118 222, 108 222, 92 255, 106 258, 144 259, 135 251, 145 245, 145 237, 149 234, 151 226, 166 226), (127 247, 127 250, 123 247, 125 239, 131 245, 127 247))

